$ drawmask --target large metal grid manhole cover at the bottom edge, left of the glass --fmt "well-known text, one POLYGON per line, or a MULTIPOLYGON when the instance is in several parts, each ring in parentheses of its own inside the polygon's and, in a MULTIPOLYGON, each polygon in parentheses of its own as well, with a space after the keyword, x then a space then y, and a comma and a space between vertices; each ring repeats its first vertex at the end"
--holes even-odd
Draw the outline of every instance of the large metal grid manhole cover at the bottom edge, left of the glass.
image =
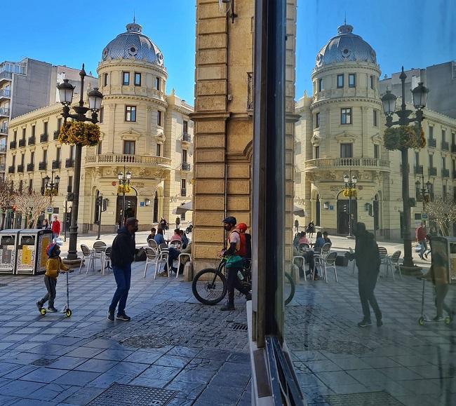
POLYGON ((112 384, 87 406, 164 406, 168 405, 176 394, 176 391, 166 389, 112 384))

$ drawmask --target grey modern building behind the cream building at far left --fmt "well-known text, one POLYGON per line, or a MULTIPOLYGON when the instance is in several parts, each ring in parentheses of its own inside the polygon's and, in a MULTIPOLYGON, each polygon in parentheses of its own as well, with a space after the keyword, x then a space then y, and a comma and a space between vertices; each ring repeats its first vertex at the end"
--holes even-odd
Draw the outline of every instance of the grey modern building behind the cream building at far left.
MULTIPOLYGON (((63 79, 76 86, 79 93, 79 70, 53 66, 47 62, 25 58, 20 62, 0 64, 0 176, 6 163, 8 123, 21 114, 58 101, 56 86, 63 79)), ((95 84, 90 74, 86 83, 95 84)))

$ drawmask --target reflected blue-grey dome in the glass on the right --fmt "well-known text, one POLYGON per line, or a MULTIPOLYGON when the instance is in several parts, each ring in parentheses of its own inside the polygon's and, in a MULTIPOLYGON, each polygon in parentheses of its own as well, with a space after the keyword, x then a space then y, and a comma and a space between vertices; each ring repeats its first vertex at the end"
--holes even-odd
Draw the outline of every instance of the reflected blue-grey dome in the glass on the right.
POLYGON ((375 50, 352 31, 353 27, 347 24, 337 28, 337 36, 330 39, 316 55, 317 68, 344 61, 370 62, 377 65, 375 50))

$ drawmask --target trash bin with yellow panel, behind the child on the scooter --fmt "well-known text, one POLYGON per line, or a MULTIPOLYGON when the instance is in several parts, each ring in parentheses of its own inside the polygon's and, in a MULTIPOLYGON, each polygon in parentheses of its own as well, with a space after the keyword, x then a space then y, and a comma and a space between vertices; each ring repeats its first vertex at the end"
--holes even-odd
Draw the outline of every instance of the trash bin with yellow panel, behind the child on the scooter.
POLYGON ((17 275, 46 272, 46 247, 52 242, 51 230, 20 230, 18 234, 17 275))

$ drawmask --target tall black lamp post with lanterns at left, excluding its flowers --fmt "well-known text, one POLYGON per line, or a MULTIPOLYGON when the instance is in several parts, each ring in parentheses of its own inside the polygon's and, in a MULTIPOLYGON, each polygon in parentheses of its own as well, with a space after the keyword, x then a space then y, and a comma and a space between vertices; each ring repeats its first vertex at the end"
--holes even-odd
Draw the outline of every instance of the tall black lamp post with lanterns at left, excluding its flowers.
MULTIPOLYGON (((83 100, 83 91, 84 91, 84 78, 87 76, 86 71, 84 70, 84 64, 82 64, 81 72, 81 88, 79 93, 81 93, 81 98, 79 99, 79 104, 74 106, 73 109, 76 114, 69 113, 69 105, 73 101, 73 91, 74 86, 71 83, 68 83, 68 79, 64 79, 63 83, 60 83, 57 86, 60 96, 60 102, 63 105, 62 116, 64 123, 67 123, 68 118, 72 118, 75 121, 90 121, 93 124, 98 123, 98 111, 101 107, 101 101, 103 95, 98 91, 98 88, 94 88, 88 92, 88 107, 84 107, 83 100), (90 118, 86 117, 87 111, 92 111, 92 116, 90 118)), ((74 176, 73 176, 73 193, 72 193, 72 222, 69 226, 69 248, 68 248, 68 261, 76 261, 78 259, 77 255, 77 240, 78 240, 78 212, 79 212, 79 182, 81 180, 81 152, 82 145, 76 144, 74 151, 74 176)))

